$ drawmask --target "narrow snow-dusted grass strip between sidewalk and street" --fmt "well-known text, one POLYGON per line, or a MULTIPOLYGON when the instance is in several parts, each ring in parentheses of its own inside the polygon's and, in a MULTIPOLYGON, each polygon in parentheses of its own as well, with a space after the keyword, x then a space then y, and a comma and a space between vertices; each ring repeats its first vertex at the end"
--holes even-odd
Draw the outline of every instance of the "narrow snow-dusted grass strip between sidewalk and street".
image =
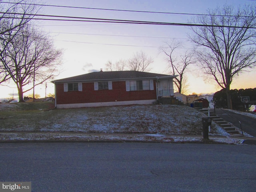
POLYGON ((1 141, 47 141, 47 142, 162 142, 162 143, 216 143, 216 144, 243 144, 243 139, 210 138, 204 141, 202 137, 193 136, 164 136, 159 134, 52 134, 52 133, 4 133, 0 134, 1 141))

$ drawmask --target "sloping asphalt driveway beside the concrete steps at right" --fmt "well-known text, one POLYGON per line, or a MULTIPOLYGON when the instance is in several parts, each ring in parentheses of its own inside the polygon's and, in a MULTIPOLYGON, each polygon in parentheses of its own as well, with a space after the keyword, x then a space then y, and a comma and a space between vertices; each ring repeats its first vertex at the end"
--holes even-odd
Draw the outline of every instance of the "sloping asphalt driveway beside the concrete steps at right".
MULTIPOLYGON (((234 126, 240 129, 240 123, 244 132, 256 137, 256 119, 244 116, 242 114, 237 114, 232 111, 215 109, 216 115, 223 118, 225 121, 232 123, 234 126)), ((213 109, 212 109, 213 111, 213 109)))

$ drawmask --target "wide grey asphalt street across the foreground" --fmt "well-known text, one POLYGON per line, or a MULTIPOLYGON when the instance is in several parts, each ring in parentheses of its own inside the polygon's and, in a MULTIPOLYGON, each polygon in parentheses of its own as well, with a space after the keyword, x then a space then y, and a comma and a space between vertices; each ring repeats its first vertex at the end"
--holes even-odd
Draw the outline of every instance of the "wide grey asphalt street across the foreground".
POLYGON ((0 181, 33 192, 255 192, 256 145, 0 143, 0 181))

